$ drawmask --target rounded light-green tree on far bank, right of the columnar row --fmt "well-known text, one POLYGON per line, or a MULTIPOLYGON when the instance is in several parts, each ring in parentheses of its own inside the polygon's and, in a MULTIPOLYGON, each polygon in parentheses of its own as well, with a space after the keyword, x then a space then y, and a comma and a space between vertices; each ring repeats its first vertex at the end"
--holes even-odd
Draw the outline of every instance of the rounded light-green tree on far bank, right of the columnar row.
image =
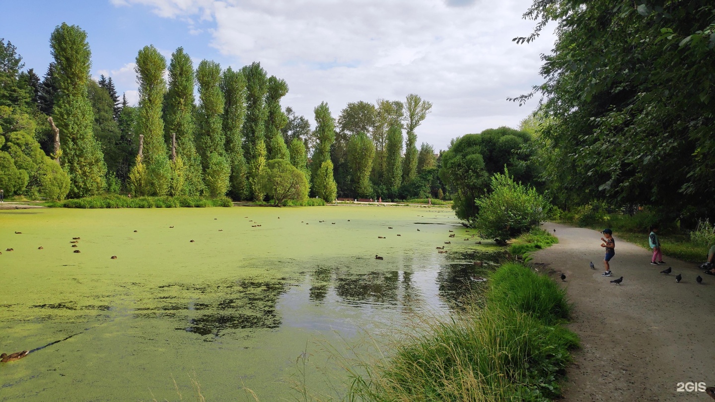
POLYGON ((263 191, 280 207, 286 200, 304 203, 308 197, 308 182, 303 172, 287 160, 269 160, 259 180, 263 191))

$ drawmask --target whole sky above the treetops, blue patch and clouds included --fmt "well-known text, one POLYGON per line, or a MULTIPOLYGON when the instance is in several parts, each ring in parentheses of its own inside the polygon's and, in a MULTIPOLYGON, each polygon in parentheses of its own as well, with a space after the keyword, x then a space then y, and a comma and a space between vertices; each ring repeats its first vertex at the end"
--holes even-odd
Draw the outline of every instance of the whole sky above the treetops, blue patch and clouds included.
POLYGON ((153 44, 167 57, 183 46, 194 60, 240 68, 260 62, 285 79, 282 100, 312 122, 327 102, 334 117, 348 102, 433 103, 418 127, 418 144, 447 149, 463 134, 518 127, 536 108, 506 101, 543 82, 541 54, 553 30, 516 44, 534 21, 521 15, 531 0, 0 0, 0 38, 11 41, 40 76, 49 36, 66 22, 87 31, 92 76, 112 77, 137 102, 134 59, 153 44))

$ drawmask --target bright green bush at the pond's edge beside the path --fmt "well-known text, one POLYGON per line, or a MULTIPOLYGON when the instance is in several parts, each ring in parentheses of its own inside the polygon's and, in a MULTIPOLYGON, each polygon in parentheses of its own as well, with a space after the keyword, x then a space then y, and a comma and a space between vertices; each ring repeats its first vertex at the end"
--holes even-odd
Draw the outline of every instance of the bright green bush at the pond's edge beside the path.
POLYGON ((491 190, 475 200, 474 227, 481 237, 508 240, 546 221, 551 206, 533 187, 514 182, 508 170, 492 176, 491 190))

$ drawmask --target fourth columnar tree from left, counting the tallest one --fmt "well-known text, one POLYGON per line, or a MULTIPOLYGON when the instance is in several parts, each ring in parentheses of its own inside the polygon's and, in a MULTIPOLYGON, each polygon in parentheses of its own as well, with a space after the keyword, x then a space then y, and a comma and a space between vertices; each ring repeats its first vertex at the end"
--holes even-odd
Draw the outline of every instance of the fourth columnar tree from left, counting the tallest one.
POLYGON ((196 70, 196 82, 199 84, 197 138, 204 168, 204 183, 209 195, 219 197, 228 192, 231 176, 222 127, 225 101, 220 88, 221 66, 217 62, 202 60, 196 70))

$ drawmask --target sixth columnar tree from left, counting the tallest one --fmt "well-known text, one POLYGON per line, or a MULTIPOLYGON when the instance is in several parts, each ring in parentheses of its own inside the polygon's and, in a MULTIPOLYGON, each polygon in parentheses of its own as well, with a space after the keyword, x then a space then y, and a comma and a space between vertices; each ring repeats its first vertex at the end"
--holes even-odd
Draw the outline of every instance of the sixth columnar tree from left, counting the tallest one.
POLYGON ((249 192, 253 200, 262 201, 265 192, 261 189, 258 176, 267 161, 265 123, 268 113, 265 97, 268 79, 260 63, 245 66, 241 72, 246 77, 246 121, 243 124, 243 137, 249 192))

